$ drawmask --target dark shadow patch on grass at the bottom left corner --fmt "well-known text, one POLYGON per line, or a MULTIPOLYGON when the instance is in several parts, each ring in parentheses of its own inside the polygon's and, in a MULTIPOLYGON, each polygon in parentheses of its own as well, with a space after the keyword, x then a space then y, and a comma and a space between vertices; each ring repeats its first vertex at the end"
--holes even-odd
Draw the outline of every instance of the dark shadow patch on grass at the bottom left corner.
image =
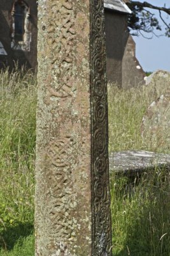
POLYGON ((0 234, 0 250, 12 250, 20 240, 24 241, 24 237, 31 235, 34 232, 34 226, 31 223, 18 223, 15 227, 7 227, 6 230, 0 234))

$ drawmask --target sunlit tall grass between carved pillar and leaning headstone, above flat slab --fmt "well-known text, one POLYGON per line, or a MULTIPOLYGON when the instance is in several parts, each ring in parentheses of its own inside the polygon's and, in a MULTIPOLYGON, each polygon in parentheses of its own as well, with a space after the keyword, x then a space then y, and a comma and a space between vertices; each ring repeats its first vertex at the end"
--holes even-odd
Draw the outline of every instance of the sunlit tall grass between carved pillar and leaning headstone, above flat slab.
POLYGON ((155 134, 150 140, 141 137, 141 122, 148 106, 160 95, 166 92, 168 84, 164 86, 141 86, 130 90, 120 89, 114 84, 108 86, 109 110, 109 150, 150 150, 153 152, 169 153, 167 145, 169 134, 155 134))

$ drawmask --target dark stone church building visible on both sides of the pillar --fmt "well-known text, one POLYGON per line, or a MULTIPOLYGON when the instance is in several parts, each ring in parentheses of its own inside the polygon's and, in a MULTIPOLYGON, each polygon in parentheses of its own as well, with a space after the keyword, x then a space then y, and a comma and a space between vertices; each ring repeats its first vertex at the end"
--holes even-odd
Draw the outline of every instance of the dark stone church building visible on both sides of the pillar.
MULTIPOLYGON (((120 87, 144 83, 145 72, 135 56, 135 43, 127 29, 129 0, 104 0, 107 78, 120 87)), ((37 67, 36 0, 0 1, 0 67, 37 67)))

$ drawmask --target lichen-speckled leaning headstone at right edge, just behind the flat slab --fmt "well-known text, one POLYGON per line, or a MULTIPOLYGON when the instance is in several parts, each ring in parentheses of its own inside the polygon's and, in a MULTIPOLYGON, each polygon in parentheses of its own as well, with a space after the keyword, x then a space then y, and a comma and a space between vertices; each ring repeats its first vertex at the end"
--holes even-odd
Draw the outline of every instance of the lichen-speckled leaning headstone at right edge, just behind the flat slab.
MULTIPOLYGON (((169 84, 170 85, 170 84, 169 84)), ((159 141, 164 150, 170 148, 170 91, 152 102, 143 116, 141 124, 143 141, 157 145, 159 141)))

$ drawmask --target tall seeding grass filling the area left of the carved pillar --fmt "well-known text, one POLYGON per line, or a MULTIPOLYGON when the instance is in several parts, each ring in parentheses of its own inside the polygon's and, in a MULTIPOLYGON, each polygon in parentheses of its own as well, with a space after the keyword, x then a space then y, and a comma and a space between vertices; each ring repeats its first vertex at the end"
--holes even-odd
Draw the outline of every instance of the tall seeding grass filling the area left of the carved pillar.
POLYGON ((24 70, 1 70, 0 255, 14 247, 16 251, 16 241, 26 243, 33 232, 35 120, 34 75, 24 70))

